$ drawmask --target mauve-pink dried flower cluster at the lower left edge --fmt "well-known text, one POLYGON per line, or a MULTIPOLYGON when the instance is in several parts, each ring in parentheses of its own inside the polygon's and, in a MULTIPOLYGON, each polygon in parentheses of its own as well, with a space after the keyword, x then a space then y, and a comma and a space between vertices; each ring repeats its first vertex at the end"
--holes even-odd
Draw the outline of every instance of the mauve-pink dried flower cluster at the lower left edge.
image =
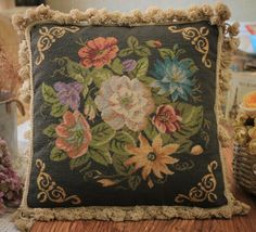
POLYGON ((8 145, 0 138, 0 215, 5 207, 16 207, 21 203, 23 184, 13 171, 8 145))

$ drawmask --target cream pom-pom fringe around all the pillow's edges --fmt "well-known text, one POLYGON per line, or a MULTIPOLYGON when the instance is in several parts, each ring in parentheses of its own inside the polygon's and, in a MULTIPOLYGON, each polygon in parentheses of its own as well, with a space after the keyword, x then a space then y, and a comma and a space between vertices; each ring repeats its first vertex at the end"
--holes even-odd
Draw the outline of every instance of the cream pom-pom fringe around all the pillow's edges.
MULTIPOLYGON (((204 4, 202 7, 193 7, 187 11, 168 9, 163 11, 157 8, 151 8, 144 13, 135 10, 130 13, 123 14, 119 12, 106 12, 105 10, 88 9, 86 12, 72 10, 69 14, 59 11, 52 11, 49 7, 40 5, 35 10, 27 10, 25 15, 13 16, 13 25, 21 36, 25 36, 25 30, 35 23, 43 23, 51 21, 60 24, 78 24, 87 23, 89 25, 137 25, 137 24, 172 24, 188 23, 195 21, 209 21, 213 25, 217 25, 222 31, 221 53, 219 54, 218 76, 218 101, 216 105, 216 114, 218 121, 223 121, 221 105, 225 102, 226 92, 229 88, 230 70, 232 53, 239 46, 239 24, 227 25, 226 21, 230 18, 230 11, 227 5, 218 3, 215 8, 204 4)), ((23 40, 20 47, 20 76, 23 80, 21 89, 21 98, 29 101, 30 90, 30 64, 28 42, 23 40)), ((228 133, 223 127, 218 126, 219 139, 222 144, 227 142, 228 133)), ((30 157, 31 158, 31 157, 30 157)), ((28 188, 28 186, 26 186, 28 188)), ((80 207, 80 208, 27 208, 23 205, 16 212, 16 224, 27 231, 35 220, 76 220, 76 219, 100 219, 100 220, 142 220, 142 219, 169 219, 180 217, 184 219, 193 218, 210 218, 223 217, 230 218, 232 215, 247 214, 249 207, 239 201, 235 201, 232 194, 227 190, 227 198, 229 204, 216 209, 205 209, 196 207, 182 206, 137 206, 137 207, 80 207)))

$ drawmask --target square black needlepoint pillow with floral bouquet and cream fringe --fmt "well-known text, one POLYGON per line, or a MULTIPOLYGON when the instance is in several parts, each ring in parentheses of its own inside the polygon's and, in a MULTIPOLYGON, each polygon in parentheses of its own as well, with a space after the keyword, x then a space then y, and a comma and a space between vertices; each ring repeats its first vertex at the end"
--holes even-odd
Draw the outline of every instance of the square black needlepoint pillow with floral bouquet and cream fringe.
POLYGON ((14 17, 33 124, 17 224, 245 214, 217 136, 236 42, 228 17, 222 4, 14 17))

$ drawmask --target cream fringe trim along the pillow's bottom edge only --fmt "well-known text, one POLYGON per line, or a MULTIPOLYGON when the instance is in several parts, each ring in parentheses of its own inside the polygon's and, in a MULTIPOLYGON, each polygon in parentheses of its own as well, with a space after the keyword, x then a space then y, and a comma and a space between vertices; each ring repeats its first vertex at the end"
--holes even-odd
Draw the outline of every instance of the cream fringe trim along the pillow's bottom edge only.
POLYGON ((15 212, 15 224, 21 231, 29 231, 35 221, 53 220, 105 220, 105 221, 140 221, 166 220, 172 218, 207 219, 226 218, 233 215, 246 215, 248 206, 235 201, 216 209, 184 206, 135 206, 135 207, 79 207, 79 208, 27 208, 22 207, 15 212))

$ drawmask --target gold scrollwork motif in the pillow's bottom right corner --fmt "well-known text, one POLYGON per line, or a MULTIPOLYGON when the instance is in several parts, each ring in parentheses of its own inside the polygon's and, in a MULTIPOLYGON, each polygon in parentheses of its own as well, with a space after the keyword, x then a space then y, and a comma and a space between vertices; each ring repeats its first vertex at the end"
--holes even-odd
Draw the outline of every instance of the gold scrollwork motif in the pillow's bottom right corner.
POLYGON ((204 202, 207 199, 208 202, 214 203, 217 199, 217 195, 214 193, 217 185, 214 170, 216 170, 217 167, 217 162, 212 162, 207 167, 209 173, 205 175, 201 182, 190 190, 188 195, 178 194, 175 202, 183 203, 185 199, 190 202, 204 202))

